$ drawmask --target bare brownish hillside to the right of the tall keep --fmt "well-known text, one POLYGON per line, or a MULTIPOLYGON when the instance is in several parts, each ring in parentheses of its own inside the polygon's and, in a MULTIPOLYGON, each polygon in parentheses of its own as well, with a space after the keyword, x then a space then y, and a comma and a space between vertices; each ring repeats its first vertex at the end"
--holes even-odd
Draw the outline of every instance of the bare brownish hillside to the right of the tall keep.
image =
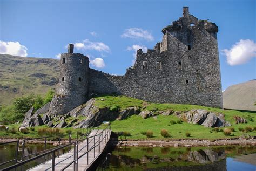
POLYGON ((256 111, 256 80, 235 84, 223 92, 224 108, 256 111))

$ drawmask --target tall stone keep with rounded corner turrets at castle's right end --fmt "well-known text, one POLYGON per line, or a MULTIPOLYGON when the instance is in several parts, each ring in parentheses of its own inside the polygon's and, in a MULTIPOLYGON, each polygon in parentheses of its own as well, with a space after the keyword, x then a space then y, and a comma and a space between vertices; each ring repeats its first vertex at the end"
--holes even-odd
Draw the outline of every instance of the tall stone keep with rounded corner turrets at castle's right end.
POLYGON ((155 49, 167 51, 169 66, 176 69, 169 69, 174 84, 170 101, 222 108, 216 24, 198 20, 184 7, 183 16, 162 32, 155 49))

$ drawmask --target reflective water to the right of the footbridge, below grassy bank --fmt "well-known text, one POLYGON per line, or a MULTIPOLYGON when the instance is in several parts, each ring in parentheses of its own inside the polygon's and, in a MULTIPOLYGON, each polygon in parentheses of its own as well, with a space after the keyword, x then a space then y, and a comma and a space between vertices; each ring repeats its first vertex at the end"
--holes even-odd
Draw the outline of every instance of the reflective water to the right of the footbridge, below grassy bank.
POLYGON ((256 146, 116 147, 97 170, 255 171, 256 146))

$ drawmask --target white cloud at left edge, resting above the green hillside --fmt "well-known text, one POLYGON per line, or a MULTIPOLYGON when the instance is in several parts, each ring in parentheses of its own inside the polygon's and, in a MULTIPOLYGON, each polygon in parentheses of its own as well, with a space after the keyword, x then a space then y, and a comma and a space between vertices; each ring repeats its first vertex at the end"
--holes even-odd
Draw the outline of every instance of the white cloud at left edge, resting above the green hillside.
POLYGON ((26 57, 28 48, 19 42, 4 42, 0 40, 0 53, 26 57))

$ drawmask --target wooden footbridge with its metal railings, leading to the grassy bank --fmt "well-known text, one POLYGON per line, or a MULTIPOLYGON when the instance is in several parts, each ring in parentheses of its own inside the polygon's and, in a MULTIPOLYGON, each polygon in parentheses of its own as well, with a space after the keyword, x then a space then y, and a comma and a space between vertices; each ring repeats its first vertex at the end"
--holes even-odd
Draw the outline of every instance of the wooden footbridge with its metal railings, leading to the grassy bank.
MULTIPOLYGON (((93 129, 90 133, 87 134, 87 138, 83 138, 83 139, 72 141, 72 142, 69 140, 68 144, 62 145, 50 150, 44 150, 42 154, 36 155, 36 153, 34 153, 32 155, 36 155, 36 156, 33 156, 30 159, 24 160, 26 156, 23 156, 22 154, 22 160, 18 161, 17 155, 16 155, 16 159, 12 160, 16 162, 15 165, 6 167, 2 170, 11 170, 11 169, 16 169, 18 167, 21 168, 26 163, 29 163, 36 159, 43 159, 42 161, 44 162, 28 170, 75 170, 75 171, 91 170, 91 168, 93 167, 93 165, 95 164, 99 156, 107 148, 107 144, 110 141, 110 135, 111 135, 110 125, 108 125, 103 130, 93 129), (71 149, 71 147, 73 148, 71 149), (58 155, 58 152, 64 148, 70 148, 70 149, 68 152, 62 155, 58 155), (51 155, 51 159, 48 161, 45 161, 45 157, 49 155, 51 155)), ((46 142, 46 138, 45 138, 45 142, 46 142)), ((6 144, 6 143, 3 143, 3 144, 6 144)))

